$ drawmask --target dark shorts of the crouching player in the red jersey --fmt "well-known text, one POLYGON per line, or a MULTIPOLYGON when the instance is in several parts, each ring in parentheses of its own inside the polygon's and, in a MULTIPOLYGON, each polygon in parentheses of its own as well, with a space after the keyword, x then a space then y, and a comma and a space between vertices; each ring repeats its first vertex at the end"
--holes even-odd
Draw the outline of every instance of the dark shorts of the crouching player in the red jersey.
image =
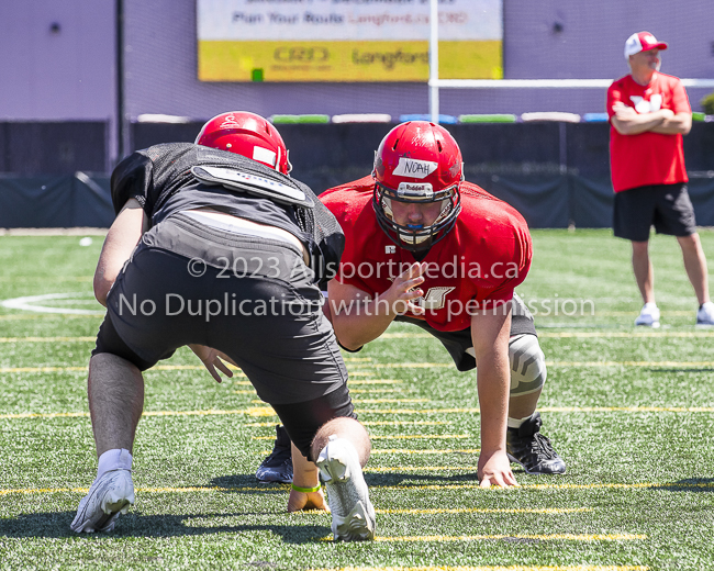
MULTIPOLYGON (((458 332, 439 332, 432 327, 424 320, 415 320, 414 317, 405 317, 398 315, 394 321, 413 323, 420 326, 425 332, 436 337, 444 348, 449 352, 454 365, 459 371, 470 371, 476 369, 476 358, 473 355, 467 352, 469 349, 473 350, 473 340, 471 339, 471 328, 461 329, 458 332)), ((513 294, 511 302, 511 337, 516 335, 537 335, 535 331, 535 323, 533 315, 523 300, 513 294)))

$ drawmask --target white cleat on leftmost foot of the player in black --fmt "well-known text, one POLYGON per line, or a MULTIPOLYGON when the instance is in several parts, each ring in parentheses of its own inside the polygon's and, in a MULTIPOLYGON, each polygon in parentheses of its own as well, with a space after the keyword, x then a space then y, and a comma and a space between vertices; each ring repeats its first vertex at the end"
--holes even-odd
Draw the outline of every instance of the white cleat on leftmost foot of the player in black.
POLYGON ((78 534, 111 531, 119 514, 134 505, 134 482, 130 470, 111 470, 94 480, 89 493, 79 502, 77 516, 69 526, 78 534))

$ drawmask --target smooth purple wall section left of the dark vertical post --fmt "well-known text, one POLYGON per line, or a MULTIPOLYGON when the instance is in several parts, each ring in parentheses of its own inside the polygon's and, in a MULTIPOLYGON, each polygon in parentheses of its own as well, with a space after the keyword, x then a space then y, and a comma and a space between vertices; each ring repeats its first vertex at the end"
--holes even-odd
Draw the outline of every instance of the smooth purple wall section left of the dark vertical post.
POLYGON ((113 0, 0 2, 0 119, 111 119, 114 77, 113 0))

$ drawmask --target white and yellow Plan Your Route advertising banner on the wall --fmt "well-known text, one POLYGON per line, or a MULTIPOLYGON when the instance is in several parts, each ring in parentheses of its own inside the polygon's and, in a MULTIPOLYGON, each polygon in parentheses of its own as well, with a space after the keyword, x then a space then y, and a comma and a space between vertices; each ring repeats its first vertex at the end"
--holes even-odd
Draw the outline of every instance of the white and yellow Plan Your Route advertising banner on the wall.
MULTIPOLYGON (((501 79, 503 0, 439 0, 439 77, 501 79)), ((197 0, 201 81, 426 81, 429 0, 197 0)))

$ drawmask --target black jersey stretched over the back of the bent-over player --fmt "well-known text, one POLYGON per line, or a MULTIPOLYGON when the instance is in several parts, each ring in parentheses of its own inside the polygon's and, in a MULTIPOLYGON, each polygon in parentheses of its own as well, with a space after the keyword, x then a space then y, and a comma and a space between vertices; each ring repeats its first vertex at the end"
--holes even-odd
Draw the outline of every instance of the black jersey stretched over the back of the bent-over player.
POLYGON ((154 145, 133 153, 116 166, 111 191, 116 213, 130 199, 135 199, 152 225, 183 210, 210 206, 258 224, 282 228, 305 245, 311 268, 323 287, 334 277, 345 246, 339 224, 306 184, 235 153, 191 143, 154 145), (228 168, 286 184, 312 199, 314 205, 282 204, 269 198, 202 182, 191 172, 191 168, 197 166, 228 168))

